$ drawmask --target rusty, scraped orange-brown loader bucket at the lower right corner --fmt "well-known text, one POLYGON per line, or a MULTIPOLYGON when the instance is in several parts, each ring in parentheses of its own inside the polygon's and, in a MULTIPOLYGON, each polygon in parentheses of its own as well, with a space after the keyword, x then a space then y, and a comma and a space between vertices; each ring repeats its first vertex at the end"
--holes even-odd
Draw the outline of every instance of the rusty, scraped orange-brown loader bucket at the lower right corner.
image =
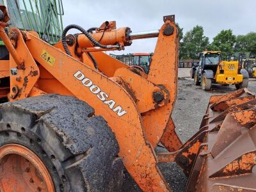
POLYGON ((188 150, 175 156, 189 174, 187 191, 256 191, 255 116, 255 95, 246 88, 211 97, 188 150))

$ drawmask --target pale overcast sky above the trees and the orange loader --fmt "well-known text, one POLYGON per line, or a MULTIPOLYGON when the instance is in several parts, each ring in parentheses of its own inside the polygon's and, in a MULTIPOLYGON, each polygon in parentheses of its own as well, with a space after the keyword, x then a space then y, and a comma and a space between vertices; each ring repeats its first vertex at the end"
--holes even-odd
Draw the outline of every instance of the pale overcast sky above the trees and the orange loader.
MULTIPOLYGON (((175 22, 184 28, 184 34, 200 25, 210 40, 222 29, 232 29, 235 35, 256 31, 255 0, 63 0, 63 8, 64 26, 79 24, 85 29, 116 20, 117 28, 148 31, 159 29, 164 15, 175 14, 175 22)), ((134 40, 130 47, 125 47, 125 53, 154 52, 155 45, 156 38, 134 40)))

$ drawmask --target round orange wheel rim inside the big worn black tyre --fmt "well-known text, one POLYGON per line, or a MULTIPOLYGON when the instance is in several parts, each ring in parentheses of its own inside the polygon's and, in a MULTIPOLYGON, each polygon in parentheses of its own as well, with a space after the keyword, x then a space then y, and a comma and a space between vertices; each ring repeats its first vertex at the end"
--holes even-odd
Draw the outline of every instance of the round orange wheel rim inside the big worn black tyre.
POLYGON ((54 191, 47 168, 34 152, 22 145, 0 148, 0 187, 2 191, 54 191))

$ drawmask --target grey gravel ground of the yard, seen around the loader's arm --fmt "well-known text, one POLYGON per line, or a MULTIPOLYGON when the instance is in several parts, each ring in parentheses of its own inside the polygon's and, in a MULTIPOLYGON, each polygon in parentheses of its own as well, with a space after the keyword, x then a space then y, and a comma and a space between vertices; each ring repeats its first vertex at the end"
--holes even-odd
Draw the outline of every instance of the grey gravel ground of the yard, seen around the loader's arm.
MULTIPOLYGON (((256 93, 256 80, 250 79, 248 89, 256 93)), ((205 92, 200 86, 193 84, 193 79, 180 77, 178 81, 178 96, 172 118, 176 132, 184 143, 199 129, 211 95, 220 95, 235 91, 235 86, 214 85, 212 90, 205 92)), ((156 152, 163 152, 164 148, 157 147, 156 152)), ((173 191, 185 191, 187 177, 175 163, 159 163, 161 172, 173 191)), ((125 172, 123 191, 140 191, 129 173, 125 172)))

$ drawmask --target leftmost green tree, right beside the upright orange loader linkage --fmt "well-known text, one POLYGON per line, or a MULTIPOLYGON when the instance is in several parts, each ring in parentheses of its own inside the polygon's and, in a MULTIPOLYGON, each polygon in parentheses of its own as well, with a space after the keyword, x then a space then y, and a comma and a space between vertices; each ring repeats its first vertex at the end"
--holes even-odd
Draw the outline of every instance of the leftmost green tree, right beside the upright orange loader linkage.
POLYGON ((188 31, 182 39, 180 46, 180 58, 197 59, 198 52, 204 51, 209 46, 209 38, 204 36, 204 28, 195 26, 188 31))

